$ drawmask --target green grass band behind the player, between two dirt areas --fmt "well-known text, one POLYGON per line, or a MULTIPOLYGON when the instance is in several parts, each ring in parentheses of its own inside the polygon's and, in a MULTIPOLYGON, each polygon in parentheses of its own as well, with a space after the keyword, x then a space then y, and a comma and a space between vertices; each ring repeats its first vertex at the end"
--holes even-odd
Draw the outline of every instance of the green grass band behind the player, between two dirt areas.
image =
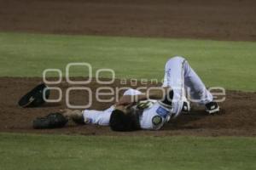
MULTIPOLYGON (((119 78, 160 80, 173 55, 189 59, 207 86, 256 89, 256 42, 0 33, 0 77, 41 77, 46 68, 64 71, 69 62, 88 62, 94 77, 97 69, 111 68, 119 78)), ((75 69, 72 75, 86 73, 75 69)))

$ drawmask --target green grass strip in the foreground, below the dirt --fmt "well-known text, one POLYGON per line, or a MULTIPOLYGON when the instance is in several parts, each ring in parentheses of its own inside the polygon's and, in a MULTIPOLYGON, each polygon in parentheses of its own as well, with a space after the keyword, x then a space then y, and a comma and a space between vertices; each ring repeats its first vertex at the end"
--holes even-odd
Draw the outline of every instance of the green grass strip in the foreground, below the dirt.
POLYGON ((0 133, 0 169, 256 169, 255 138, 0 133))

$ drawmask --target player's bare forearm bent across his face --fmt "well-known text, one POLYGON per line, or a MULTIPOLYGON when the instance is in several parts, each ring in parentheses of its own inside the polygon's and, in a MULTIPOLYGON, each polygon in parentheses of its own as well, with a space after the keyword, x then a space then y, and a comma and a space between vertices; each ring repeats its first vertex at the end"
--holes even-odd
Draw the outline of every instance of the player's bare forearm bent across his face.
POLYGON ((116 105, 131 105, 132 103, 137 103, 141 100, 146 99, 165 99, 166 94, 168 94, 172 88, 150 88, 145 94, 137 95, 124 95, 116 105))

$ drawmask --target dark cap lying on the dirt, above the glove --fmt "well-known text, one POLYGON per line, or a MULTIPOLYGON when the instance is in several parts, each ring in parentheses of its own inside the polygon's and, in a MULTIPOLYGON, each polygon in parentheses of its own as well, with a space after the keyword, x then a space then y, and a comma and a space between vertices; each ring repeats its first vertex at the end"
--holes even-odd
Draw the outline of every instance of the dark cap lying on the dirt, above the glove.
POLYGON ((43 105, 45 102, 44 93, 45 99, 49 99, 49 88, 44 83, 41 83, 19 100, 20 107, 37 107, 43 105))

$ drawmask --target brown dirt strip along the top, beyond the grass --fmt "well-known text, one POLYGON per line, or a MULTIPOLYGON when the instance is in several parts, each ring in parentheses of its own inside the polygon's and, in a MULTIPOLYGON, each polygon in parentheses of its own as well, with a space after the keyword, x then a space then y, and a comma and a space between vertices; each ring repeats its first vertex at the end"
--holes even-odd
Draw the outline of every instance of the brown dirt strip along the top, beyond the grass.
POLYGON ((253 0, 0 0, 0 31, 256 40, 253 0))

